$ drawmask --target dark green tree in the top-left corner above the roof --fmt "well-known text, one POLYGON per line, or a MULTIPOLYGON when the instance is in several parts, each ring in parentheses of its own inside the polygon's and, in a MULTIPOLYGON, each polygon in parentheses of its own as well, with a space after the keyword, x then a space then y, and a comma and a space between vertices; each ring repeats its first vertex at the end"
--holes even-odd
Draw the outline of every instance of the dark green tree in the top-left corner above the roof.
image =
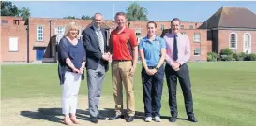
POLYGON ((19 16, 19 9, 10 1, 1 1, 1 16, 19 16))

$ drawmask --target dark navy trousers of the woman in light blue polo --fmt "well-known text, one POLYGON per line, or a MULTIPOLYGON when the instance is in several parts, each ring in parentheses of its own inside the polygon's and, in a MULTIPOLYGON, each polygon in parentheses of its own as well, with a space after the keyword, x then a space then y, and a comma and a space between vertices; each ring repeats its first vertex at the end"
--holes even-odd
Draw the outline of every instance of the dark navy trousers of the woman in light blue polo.
MULTIPOLYGON (((149 69, 155 66, 149 66, 149 69)), ((142 70, 143 81, 143 102, 145 117, 160 116, 162 85, 164 77, 163 65, 159 67, 155 75, 147 75, 145 69, 142 70)))

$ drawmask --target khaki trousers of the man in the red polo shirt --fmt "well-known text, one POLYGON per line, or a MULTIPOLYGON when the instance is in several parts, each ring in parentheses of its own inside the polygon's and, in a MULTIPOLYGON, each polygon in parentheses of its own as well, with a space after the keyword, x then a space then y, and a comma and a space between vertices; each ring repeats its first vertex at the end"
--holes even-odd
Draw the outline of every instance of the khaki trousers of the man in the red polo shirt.
POLYGON ((128 116, 135 115, 135 98, 133 92, 133 77, 129 77, 129 70, 132 67, 131 61, 112 62, 113 97, 115 102, 116 115, 123 111, 123 85, 127 93, 128 116))

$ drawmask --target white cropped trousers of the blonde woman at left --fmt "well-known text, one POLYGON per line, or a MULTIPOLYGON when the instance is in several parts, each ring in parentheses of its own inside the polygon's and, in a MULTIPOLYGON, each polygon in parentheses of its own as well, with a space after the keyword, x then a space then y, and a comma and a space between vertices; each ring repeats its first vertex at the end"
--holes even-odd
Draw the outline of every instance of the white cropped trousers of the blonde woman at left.
POLYGON ((69 71, 65 73, 65 81, 62 85, 62 113, 65 115, 76 113, 81 76, 69 71))

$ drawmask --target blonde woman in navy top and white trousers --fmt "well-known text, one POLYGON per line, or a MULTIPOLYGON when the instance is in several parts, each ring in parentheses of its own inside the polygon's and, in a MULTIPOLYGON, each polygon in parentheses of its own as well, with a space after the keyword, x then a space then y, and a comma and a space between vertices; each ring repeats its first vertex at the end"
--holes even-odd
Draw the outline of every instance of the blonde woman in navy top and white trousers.
POLYGON ((80 83, 84 78, 86 52, 83 42, 78 39, 78 32, 78 25, 69 22, 59 42, 58 73, 62 86, 62 113, 65 115, 64 123, 67 125, 72 122, 79 123, 76 119, 76 109, 80 83))

